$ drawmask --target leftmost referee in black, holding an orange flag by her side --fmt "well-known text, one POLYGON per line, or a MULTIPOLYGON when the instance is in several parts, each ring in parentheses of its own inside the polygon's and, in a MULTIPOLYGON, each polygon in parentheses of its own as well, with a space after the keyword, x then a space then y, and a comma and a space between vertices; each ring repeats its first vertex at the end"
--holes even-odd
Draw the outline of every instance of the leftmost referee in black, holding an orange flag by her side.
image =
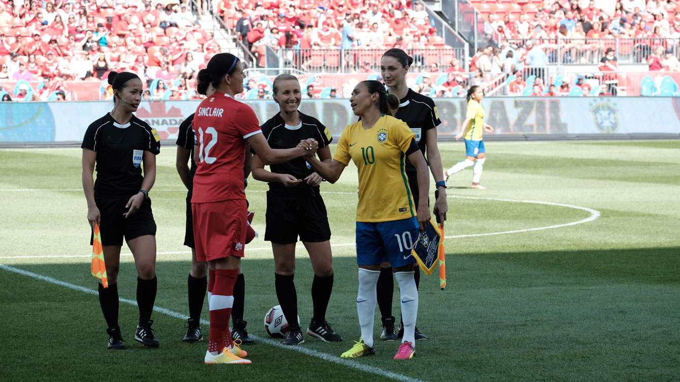
POLYGON ((114 90, 114 110, 90 124, 81 146, 87 219, 92 229, 99 223, 109 280, 108 288, 99 283, 99 305, 108 326, 108 348, 124 349, 116 283, 124 237, 137 268, 139 324, 135 340, 157 347, 151 328, 156 300, 156 223, 149 191, 156 180, 160 137, 133 114, 141 102, 141 79, 133 73, 111 72, 108 80, 114 90), (96 183, 93 170, 97 170, 96 183))

